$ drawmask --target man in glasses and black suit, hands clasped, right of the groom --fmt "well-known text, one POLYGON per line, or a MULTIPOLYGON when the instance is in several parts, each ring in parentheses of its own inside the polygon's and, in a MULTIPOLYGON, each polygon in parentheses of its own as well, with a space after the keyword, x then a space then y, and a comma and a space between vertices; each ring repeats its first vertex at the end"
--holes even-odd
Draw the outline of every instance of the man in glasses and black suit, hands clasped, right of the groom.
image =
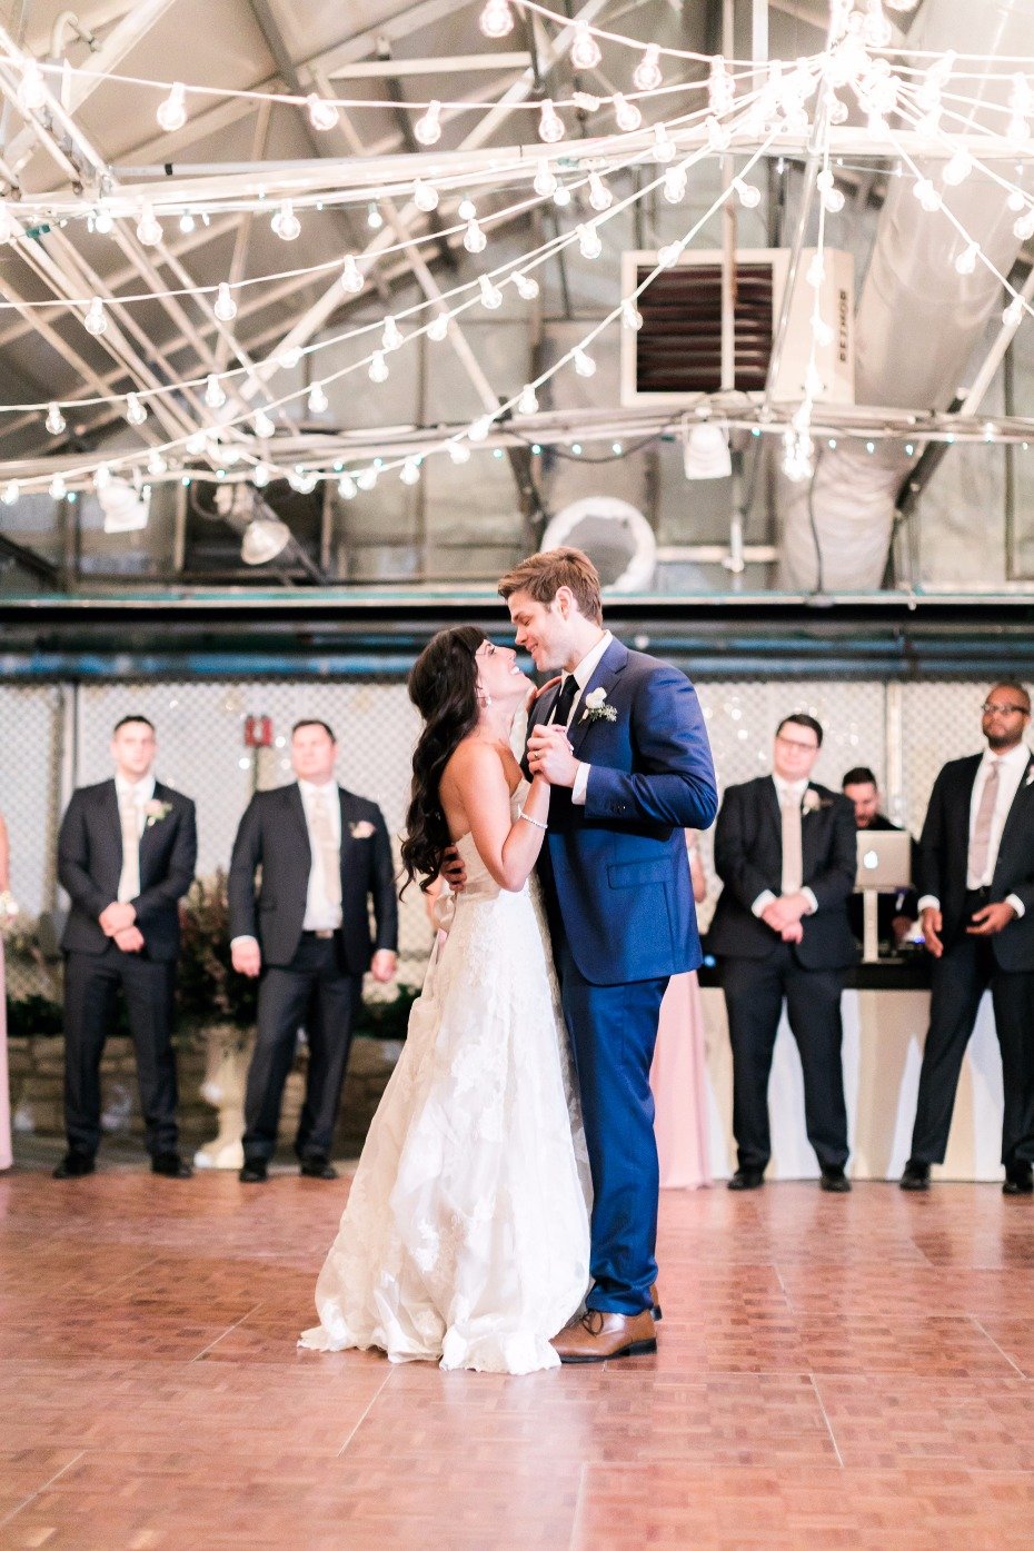
POLYGON ((730 1190, 757 1190, 772 1151, 769 1073, 783 999, 805 1073, 808 1140, 822 1188, 848 1191, 848 1120, 840 1066, 840 993, 856 957, 846 900, 854 887, 854 814, 809 780, 822 726, 803 712, 775 731, 774 774, 730 786, 715 828, 724 889, 708 932, 721 962, 733 1056, 739 1168, 730 1190))

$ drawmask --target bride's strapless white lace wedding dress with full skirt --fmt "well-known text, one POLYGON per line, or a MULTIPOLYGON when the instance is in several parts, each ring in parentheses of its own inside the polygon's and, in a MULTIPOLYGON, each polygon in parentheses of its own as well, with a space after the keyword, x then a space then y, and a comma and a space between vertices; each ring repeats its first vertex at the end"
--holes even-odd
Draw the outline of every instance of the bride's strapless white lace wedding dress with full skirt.
MULTIPOLYGON (((527 793, 521 783, 516 805, 527 793)), ((374 1117, 302 1346, 532 1373, 589 1284, 589 1165, 538 884, 467 886, 374 1117)))

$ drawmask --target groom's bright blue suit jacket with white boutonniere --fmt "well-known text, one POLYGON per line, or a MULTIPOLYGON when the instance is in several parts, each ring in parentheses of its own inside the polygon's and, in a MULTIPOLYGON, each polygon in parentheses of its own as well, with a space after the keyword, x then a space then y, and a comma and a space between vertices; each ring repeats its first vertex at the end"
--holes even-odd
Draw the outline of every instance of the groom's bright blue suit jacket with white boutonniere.
MULTIPOLYGON (((558 690, 536 701, 529 732, 558 690)), ((553 791, 539 876, 553 937, 592 985, 625 985, 701 962, 687 828, 718 811, 715 766, 696 690, 684 673, 612 641, 577 701, 570 743, 592 766, 584 807, 553 791), (606 692, 612 721, 586 715, 606 692)))

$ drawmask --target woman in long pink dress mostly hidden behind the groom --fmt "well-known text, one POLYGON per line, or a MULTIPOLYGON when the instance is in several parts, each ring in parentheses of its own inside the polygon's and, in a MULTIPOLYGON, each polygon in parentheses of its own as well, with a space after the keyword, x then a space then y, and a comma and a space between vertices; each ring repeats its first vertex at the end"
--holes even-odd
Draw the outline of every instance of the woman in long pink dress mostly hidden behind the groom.
MULTIPOLYGON (((704 867, 691 830, 687 830, 685 841, 693 898, 699 904, 707 893, 704 867)), ((704 1011, 695 971, 676 974, 668 982, 660 1003, 650 1086, 656 1104, 654 1134, 662 1188, 696 1190, 710 1185, 704 1011)))

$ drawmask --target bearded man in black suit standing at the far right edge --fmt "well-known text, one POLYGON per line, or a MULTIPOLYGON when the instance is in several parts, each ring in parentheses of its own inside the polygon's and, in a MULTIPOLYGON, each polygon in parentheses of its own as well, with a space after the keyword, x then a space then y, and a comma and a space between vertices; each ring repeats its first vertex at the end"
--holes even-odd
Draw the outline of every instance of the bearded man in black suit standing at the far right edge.
POLYGON ((1034 758, 1031 696, 995 684, 983 754, 950 760, 919 839, 919 920, 933 955, 912 1157, 902 1190, 929 1190, 944 1162, 955 1089, 980 997, 991 986, 1001 1048, 1005 1194, 1034 1194, 1034 758))

